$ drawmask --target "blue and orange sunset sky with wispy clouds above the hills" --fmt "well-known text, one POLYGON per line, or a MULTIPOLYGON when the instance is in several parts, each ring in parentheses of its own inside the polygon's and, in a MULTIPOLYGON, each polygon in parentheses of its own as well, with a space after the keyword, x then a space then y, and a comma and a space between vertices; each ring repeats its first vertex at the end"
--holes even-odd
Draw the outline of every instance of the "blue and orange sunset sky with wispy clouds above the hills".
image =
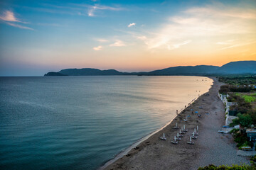
POLYGON ((256 60, 256 1, 0 1, 0 76, 256 60))

